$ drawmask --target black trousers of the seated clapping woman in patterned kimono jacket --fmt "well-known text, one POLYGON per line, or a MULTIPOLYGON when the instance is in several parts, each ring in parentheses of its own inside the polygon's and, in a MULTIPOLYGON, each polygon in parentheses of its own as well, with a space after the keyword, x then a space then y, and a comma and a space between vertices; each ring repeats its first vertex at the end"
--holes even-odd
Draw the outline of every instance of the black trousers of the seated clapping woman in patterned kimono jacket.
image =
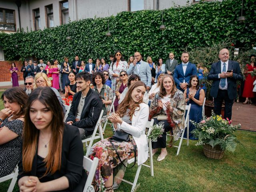
POLYGON ((156 142, 152 142, 153 149, 166 148, 166 132, 172 130, 170 123, 167 120, 158 121, 157 118, 154 118, 154 124, 158 124, 159 122, 164 122, 164 133, 156 142))

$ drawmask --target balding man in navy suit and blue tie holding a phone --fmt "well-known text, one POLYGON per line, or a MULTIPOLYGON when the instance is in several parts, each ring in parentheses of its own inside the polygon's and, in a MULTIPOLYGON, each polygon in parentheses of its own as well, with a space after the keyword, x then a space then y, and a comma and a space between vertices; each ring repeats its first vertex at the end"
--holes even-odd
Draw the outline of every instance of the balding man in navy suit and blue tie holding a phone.
POLYGON ((224 48, 219 52, 220 61, 213 63, 207 76, 213 80, 211 96, 214 98, 214 113, 221 114, 223 100, 225 101, 224 118, 232 117, 232 106, 236 98, 236 81, 243 76, 238 62, 229 60, 229 51, 224 48))

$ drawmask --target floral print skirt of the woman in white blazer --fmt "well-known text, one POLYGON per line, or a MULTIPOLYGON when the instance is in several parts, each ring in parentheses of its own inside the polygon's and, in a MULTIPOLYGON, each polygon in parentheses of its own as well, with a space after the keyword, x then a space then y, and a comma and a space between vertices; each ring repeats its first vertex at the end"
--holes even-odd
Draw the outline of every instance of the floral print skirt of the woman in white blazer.
MULTIPOLYGON (((89 156, 92 160, 94 157, 97 157, 99 159, 99 163, 96 169, 96 182, 99 183, 99 178, 101 177, 105 182, 113 173, 114 188, 118 188, 122 181, 122 178, 124 177, 126 167, 122 165, 122 163, 118 159, 116 151, 114 150, 112 144, 109 142, 108 139, 109 138, 106 138, 95 143, 92 146, 89 156)), ((136 147, 136 143, 133 138, 132 142, 136 147)), ((134 158, 134 148, 131 142, 112 143, 116 147, 116 150, 119 152, 119 156, 124 164, 126 164, 127 159, 134 158)))

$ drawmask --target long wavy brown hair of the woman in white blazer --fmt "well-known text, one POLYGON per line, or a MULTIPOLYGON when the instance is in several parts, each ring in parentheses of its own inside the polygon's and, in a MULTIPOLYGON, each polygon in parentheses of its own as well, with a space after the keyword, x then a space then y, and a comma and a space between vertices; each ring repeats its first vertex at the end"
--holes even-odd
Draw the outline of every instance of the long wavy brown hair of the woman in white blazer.
POLYGON ((130 117, 130 120, 132 120, 132 116, 136 108, 139 108, 138 110, 140 110, 140 103, 143 102, 143 99, 141 99, 139 102, 134 103, 132 106, 130 106, 130 103, 132 101, 132 91, 138 86, 144 86, 144 88, 146 89, 146 84, 142 81, 137 81, 130 86, 130 88, 128 89, 128 92, 126 93, 126 96, 124 97, 124 100, 122 100, 122 102, 118 106, 118 110, 116 111, 116 113, 120 117, 123 117, 126 114, 126 110, 130 108, 128 115, 130 117))

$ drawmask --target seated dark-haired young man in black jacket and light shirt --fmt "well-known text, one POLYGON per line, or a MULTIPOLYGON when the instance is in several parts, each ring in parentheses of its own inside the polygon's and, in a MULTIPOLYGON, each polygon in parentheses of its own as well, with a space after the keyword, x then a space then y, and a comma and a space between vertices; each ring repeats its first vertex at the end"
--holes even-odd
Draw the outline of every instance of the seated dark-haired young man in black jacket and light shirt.
POLYGON ((90 89, 90 75, 86 72, 76 74, 76 87, 73 101, 66 118, 67 124, 78 127, 81 139, 90 136, 102 110, 100 96, 90 89))

